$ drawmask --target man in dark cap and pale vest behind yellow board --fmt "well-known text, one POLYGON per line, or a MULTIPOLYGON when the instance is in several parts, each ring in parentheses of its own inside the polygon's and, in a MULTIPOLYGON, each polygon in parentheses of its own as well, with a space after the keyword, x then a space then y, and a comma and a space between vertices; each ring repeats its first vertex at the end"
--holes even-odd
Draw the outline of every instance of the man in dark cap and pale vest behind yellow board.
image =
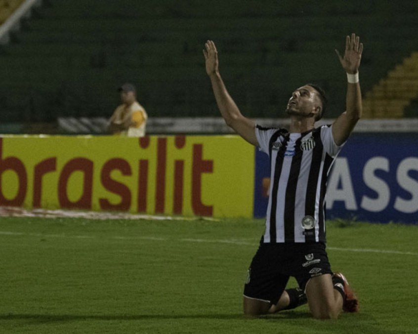
POLYGON ((109 120, 108 131, 128 137, 145 136, 148 115, 136 101, 136 89, 131 83, 119 87, 122 104, 116 108, 109 120))

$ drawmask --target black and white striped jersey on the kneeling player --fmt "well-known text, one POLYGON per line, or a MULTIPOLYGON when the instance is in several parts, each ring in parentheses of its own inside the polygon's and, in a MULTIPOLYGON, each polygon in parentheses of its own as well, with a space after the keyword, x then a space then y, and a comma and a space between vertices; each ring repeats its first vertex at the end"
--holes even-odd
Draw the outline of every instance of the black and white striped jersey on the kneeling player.
POLYGON ((270 196, 264 243, 326 242, 325 192, 341 146, 330 125, 304 133, 256 126, 259 149, 270 158, 270 196))

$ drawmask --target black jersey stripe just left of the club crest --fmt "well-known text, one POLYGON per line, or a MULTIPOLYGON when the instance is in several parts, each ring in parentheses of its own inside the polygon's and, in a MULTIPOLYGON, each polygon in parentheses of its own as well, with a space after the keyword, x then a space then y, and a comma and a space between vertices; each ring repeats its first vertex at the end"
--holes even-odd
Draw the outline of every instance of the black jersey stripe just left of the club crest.
POLYGON ((286 186, 285 198, 285 242, 294 242, 294 206, 296 203, 296 187, 302 162, 302 149, 300 144, 302 136, 298 138, 294 145, 294 156, 289 173, 288 184, 286 186))

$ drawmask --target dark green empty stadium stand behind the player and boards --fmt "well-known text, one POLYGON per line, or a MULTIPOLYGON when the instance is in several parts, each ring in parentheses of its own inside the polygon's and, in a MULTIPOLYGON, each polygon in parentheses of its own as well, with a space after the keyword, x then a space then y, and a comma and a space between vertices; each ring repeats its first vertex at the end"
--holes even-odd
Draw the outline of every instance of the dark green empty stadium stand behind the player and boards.
POLYGON ((280 117, 291 91, 313 82, 328 92, 333 118, 346 85, 334 49, 351 32, 366 45, 366 116, 417 117, 404 115, 418 87, 402 75, 416 64, 417 17, 415 1, 44 0, 0 48, 0 122, 109 117, 125 81, 137 84, 150 117, 218 116, 202 55, 208 39, 246 115, 280 117), (405 104, 394 111, 388 99, 397 96, 405 104))

